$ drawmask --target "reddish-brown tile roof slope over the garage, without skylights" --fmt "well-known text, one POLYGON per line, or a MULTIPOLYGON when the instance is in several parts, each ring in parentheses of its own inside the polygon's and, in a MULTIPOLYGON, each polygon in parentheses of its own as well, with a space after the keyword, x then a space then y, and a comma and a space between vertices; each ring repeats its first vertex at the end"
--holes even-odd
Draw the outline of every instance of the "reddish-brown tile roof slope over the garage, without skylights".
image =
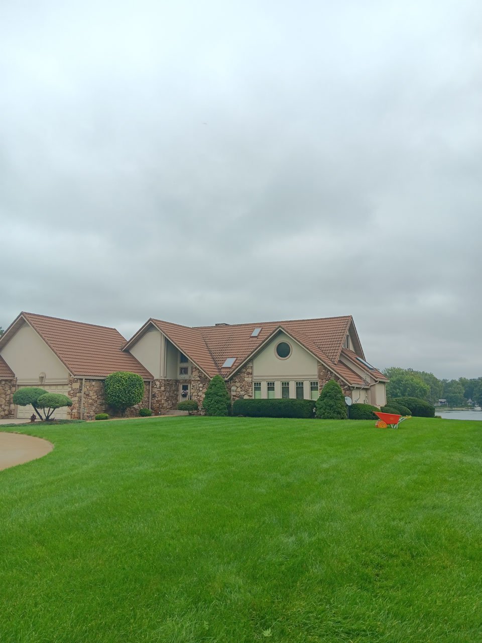
POLYGON ((74 376, 107 377, 127 370, 154 379, 133 355, 121 350, 125 338, 114 328, 31 312, 21 314, 74 376))

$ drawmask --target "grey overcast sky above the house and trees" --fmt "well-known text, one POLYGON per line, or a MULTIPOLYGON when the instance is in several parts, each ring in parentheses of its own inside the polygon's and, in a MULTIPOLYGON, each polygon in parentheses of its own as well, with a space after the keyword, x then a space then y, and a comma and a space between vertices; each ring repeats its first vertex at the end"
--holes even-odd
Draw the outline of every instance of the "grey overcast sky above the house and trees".
POLYGON ((352 314, 482 376, 480 0, 2 0, 0 325, 352 314))

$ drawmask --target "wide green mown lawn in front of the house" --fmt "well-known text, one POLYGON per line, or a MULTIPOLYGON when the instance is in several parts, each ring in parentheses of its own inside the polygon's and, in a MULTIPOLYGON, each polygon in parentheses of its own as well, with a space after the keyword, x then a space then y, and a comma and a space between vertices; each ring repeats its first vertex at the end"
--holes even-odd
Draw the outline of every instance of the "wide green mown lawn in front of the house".
POLYGON ((27 426, 1 643, 482 641, 482 422, 374 424, 27 426))

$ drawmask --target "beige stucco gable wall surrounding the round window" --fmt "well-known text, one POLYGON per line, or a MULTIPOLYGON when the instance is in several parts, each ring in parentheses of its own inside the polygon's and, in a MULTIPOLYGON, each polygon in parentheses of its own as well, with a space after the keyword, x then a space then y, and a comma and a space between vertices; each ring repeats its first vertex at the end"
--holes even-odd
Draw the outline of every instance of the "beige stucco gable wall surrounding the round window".
POLYGON ((284 332, 270 341, 253 359, 253 381, 262 379, 276 380, 316 380, 318 379, 316 359, 284 332), (286 341, 292 347, 287 359, 279 359, 274 349, 280 341, 286 341))

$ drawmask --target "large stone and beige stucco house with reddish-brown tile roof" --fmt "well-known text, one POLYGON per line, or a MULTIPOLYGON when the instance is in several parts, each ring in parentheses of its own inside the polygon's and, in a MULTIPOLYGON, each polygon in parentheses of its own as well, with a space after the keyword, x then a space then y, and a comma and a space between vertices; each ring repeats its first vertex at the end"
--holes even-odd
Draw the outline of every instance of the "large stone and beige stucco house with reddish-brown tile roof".
POLYGON ((365 359, 351 316, 188 327, 148 320, 126 341, 113 328, 21 312, 0 338, 0 418, 30 417, 15 407, 21 386, 62 392, 72 401, 55 417, 89 418, 106 410, 103 380, 117 370, 139 374, 145 395, 137 408, 175 409, 202 403, 220 375, 240 397, 316 399, 335 379, 353 402, 383 406, 388 381, 365 359))

